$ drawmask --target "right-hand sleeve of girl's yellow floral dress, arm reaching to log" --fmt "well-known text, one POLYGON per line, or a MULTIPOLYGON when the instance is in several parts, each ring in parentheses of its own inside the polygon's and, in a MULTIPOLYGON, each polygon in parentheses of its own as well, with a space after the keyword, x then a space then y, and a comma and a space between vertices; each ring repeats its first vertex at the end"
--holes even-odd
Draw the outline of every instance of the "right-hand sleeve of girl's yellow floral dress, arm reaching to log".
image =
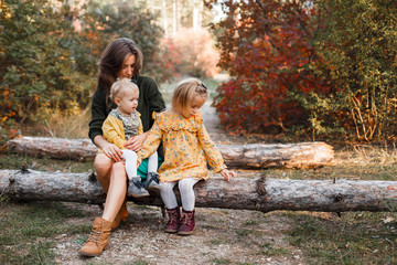
POLYGON ((210 166, 214 169, 214 172, 217 173, 225 169, 226 165, 224 163, 222 153, 216 149, 215 144, 211 140, 211 137, 203 123, 197 130, 197 138, 204 150, 205 158, 207 159, 210 166))

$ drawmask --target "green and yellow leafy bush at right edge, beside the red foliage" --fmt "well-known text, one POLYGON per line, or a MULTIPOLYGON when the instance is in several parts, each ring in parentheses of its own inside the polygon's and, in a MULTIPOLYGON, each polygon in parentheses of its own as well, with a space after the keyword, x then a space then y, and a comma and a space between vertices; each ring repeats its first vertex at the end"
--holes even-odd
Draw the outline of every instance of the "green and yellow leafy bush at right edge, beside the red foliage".
POLYGON ((316 109, 323 130, 340 129, 358 140, 397 134, 397 2, 320 1, 324 24, 312 40, 313 71, 332 87, 302 100, 316 109), (324 123, 326 121, 326 123, 324 123))

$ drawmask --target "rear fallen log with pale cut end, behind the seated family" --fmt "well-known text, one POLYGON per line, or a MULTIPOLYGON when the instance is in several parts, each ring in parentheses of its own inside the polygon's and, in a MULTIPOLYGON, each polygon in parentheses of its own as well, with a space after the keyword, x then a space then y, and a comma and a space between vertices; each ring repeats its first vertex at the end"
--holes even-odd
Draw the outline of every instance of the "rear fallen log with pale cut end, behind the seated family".
MULTIPOLYGON (((10 151, 57 159, 93 160, 98 148, 89 139, 20 137, 8 141, 10 151)), ((318 168, 329 165, 334 151, 325 142, 217 145, 232 168, 318 168)))

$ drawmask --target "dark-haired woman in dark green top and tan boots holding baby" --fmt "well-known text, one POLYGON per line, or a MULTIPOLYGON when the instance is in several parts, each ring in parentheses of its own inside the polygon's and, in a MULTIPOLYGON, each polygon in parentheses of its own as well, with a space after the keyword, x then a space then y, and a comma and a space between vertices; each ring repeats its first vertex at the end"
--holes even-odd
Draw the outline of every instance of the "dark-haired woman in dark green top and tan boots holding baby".
MULTIPOLYGON (((121 38, 112 41, 104 51, 99 62, 97 88, 93 96, 92 120, 89 123, 89 138, 104 152, 98 153, 94 161, 97 178, 107 193, 101 218, 94 220, 93 231, 87 243, 79 250, 85 256, 100 255, 108 244, 110 230, 116 229, 120 221, 128 216, 126 205, 127 173, 121 160, 121 150, 114 144, 105 140, 101 126, 112 107, 109 99, 110 86, 117 78, 131 78, 139 87, 137 110, 141 114, 143 134, 131 137, 126 148, 140 150, 148 130, 153 125, 152 113, 165 109, 165 104, 154 81, 140 76, 143 55, 133 41, 121 38)), ((162 151, 159 150, 162 157, 162 151)), ((139 169, 144 169, 141 165, 139 169)), ((147 180, 147 182, 157 179, 147 180)), ((147 183, 149 186, 150 183, 147 183)))

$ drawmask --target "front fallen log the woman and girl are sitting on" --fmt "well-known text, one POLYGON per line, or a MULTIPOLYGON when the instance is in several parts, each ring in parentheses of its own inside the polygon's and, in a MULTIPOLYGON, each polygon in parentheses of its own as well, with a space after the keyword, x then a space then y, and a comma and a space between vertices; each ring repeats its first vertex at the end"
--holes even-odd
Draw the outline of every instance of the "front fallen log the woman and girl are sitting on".
MULTIPOLYGON (((242 176, 244 177, 244 176, 242 176)), ((395 211, 397 181, 288 180, 258 177, 226 182, 211 178, 195 186, 196 206, 270 212, 290 211, 395 211)), ((89 173, 51 173, 0 170, 0 194, 12 200, 101 203, 105 193, 89 173)), ((139 204, 162 205, 158 197, 139 204)))

